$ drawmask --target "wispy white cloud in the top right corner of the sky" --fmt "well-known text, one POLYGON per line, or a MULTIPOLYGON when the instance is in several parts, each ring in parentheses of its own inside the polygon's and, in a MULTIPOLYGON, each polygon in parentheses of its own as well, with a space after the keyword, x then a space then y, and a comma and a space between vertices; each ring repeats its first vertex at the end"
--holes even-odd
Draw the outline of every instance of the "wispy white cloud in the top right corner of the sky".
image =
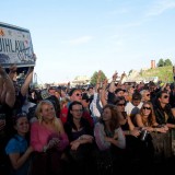
POLYGON ((158 0, 152 9, 147 13, 148 16, 160 15, 163 12, 175 9, 175 1, 173 0, 158 0))

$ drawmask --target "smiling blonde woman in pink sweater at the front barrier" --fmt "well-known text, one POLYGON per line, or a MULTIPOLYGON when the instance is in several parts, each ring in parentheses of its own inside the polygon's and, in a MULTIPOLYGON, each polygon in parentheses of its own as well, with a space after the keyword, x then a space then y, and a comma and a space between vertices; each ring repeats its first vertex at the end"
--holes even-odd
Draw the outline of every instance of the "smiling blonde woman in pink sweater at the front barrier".
POLYGON ((61 155, 69 144, 63 125, 56 117, 54 105, 49 101, 39 102, 35 113, 38 120, 32 124, 31 144, 39 154, 35 160, 32 175, 40 174, 40 172, 45 175, 60 173, 61 155), (43 156, 45 154, 42 153, 47 153, 47 155, 43 156))

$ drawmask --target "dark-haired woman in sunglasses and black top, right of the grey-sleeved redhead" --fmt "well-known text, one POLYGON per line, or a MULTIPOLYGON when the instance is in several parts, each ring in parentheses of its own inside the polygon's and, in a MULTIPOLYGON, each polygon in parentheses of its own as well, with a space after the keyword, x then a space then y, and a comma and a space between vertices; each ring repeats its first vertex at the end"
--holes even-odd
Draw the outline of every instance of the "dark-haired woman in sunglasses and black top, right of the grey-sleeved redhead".
POLYGON ((132 167, 133 165, 138 165, 141 162, 148 160, 145 156, 148 148, 145 147, 145 143, 140 140, 140 127, 135 126, 130 119, 130 116, 127 116, 125 112, 125 98, 121 96, 118 97, 115 105, 122 114, 120 118, 120 127, 126 137, 126 153, 129 162, 128 167, 132 167))

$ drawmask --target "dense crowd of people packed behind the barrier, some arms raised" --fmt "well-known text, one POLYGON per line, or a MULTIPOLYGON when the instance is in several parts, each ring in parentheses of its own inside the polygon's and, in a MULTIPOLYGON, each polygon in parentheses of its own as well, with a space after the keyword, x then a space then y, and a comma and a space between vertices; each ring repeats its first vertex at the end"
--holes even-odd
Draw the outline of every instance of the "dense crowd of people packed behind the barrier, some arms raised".
POLYGON ((174 83, 121 83, 117 73, 101 82, 98 71, 86 89, 38 90, 30 86, 33 73, 28 68, 19 83, 15 65, 9 72, 0 67, 1 175, 171 171, 174 83))

